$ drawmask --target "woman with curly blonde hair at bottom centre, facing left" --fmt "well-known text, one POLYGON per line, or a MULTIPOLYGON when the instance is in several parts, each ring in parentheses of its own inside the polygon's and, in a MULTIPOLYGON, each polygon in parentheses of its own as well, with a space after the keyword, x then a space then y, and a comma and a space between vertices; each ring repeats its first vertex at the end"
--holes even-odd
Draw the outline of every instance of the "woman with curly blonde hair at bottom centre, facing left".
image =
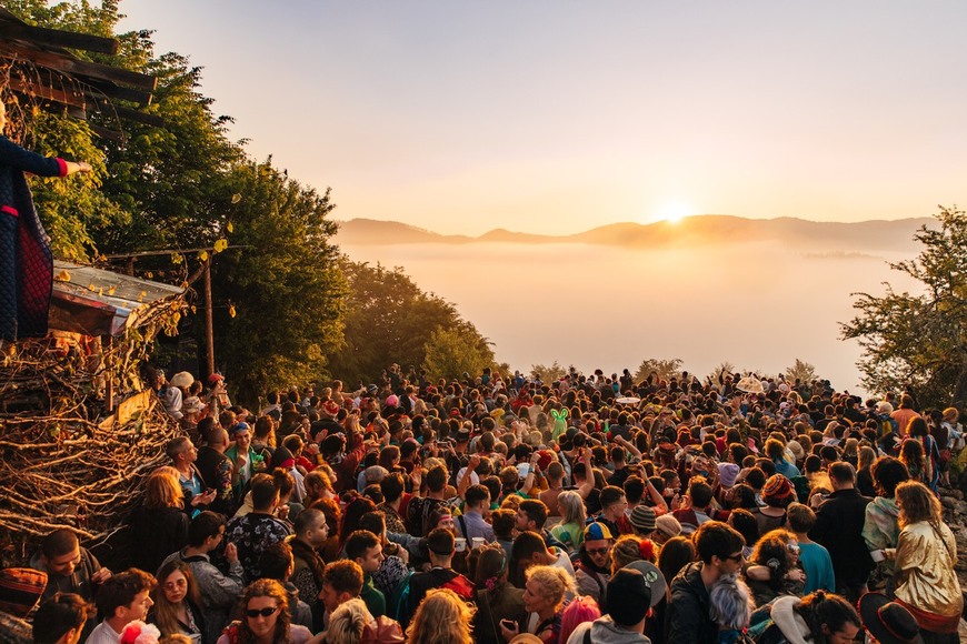
MULTIPOLYGON (((524 610, 529 613, 526 631, 545 644, 558 644, 565 595, 576 592, 575 581, 564 568, 538 565, 527 568, 524 610)), ((508 642, 521 631, 521 624, 502 622, 500 633, 508 642)))

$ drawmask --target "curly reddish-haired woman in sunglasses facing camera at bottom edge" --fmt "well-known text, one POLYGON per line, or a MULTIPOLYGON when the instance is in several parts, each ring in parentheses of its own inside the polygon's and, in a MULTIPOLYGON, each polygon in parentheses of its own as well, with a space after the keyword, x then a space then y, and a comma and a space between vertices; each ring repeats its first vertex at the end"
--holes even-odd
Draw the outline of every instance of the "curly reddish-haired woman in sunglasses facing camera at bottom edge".
POLYGON ((241 605, 241 620, 229 624, 216 644, 305 644, 312 636, 306 626, 291 623, 289 595, 282 584, 275 580, 259 580, 249 584, 242 595, 241 605))

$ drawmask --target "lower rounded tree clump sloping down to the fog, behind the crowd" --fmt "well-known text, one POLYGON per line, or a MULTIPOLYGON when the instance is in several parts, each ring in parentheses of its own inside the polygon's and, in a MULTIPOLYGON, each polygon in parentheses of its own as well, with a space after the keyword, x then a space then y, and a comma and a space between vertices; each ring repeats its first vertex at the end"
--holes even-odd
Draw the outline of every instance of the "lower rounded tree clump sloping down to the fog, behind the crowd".
POLYGON ((348 293, 345 344, 331 359, 335 375, 350 383, 373 382, 393 362, 403 368, 423 364, 427 343, 437 329, 459 330, 465 342, 481 353, 490 352, 492 361, 487 340, 460 318, 456 306, 421 291, 401 268, 347 258, 340 266, 348 293))

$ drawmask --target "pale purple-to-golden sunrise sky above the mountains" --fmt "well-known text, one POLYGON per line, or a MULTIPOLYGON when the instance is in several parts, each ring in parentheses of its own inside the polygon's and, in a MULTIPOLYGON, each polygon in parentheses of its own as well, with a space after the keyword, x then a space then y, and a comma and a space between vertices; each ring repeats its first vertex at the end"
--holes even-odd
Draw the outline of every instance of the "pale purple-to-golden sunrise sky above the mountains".
POLYGON ((122 0, 337 219, 568 234, 964 204, 967 3, 122 0))

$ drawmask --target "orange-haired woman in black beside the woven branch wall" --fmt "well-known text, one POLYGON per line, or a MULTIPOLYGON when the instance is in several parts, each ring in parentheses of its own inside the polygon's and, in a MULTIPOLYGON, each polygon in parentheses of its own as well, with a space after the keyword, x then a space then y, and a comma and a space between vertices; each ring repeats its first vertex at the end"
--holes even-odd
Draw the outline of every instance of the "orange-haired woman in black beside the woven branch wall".
POLYGON ((131 516, 131 563, 157 571, 172 552, 188 543, 188 515, 178 470, 158 467, 144 482, 141 506, 131 516))

